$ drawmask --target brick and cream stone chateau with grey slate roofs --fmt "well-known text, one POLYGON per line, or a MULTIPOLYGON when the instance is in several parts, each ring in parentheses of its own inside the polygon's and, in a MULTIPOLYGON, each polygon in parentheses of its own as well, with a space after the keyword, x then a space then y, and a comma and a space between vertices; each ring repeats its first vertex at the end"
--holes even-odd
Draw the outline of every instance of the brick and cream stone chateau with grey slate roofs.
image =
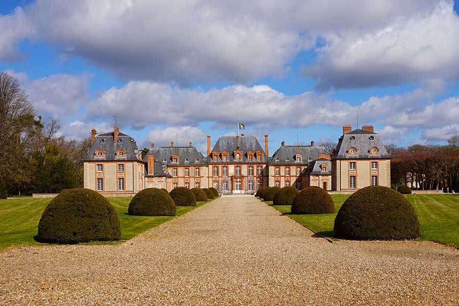
POLYGON ((322 146, 285 145, 269 156, 255 136, 221 136, 203 156, 189 146, 155 147, 142 158, 136 141, 119 132, 97 135, 84 160, 84 187, 102 194, 135 194, 144 188, 209 188, 222 193, 253 193, 262 186, 318 186, 328 191, 354 191, 370 185, 390 187, 390 157, 373 125, 352 131, 343 126, 333 154, 322 146))

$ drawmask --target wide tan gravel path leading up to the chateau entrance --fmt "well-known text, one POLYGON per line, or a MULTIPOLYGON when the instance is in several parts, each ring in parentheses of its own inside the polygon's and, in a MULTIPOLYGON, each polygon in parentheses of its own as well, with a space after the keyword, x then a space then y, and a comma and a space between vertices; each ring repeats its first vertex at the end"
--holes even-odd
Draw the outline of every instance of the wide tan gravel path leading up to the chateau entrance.
POLYGON ((0 304, 459 304, 459 250, 312 235, 225 196, 123 244, 1 251, 0 304))

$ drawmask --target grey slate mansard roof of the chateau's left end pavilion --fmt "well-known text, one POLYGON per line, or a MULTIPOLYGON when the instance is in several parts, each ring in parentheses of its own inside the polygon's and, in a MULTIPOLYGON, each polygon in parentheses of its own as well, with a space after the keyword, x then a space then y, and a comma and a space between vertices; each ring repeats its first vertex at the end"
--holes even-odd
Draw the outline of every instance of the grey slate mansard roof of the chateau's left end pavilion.
POLYGON ((114 143, 114 135, 114 132, 96 135, 94 142, 83 161, 142 161, 141 157, 137 157, 139 149, 134 138, 129 135, 119 133, 117 142, 114 143), (115 156, 116 151, 121 149, 126 151, 125 156, 115 156), (96 150, 105 151, 105 157, 96 156, 96 150))

